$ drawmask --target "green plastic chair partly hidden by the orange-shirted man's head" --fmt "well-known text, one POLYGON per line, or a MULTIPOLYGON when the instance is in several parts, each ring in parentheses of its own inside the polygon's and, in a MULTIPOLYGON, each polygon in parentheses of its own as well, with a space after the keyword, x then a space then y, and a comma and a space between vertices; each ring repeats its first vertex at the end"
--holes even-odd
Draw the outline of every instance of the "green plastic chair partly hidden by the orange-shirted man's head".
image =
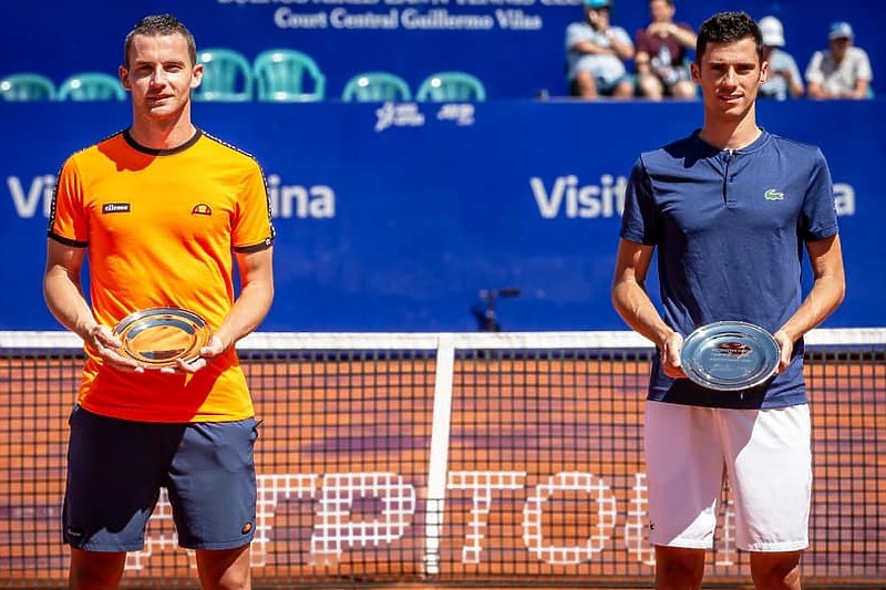
POLYGON ((253 65, 231 49, 205 49, 197 52, 203 64, 200 85, 192 91, 195 101, 247 102, 253 100, 253 65))

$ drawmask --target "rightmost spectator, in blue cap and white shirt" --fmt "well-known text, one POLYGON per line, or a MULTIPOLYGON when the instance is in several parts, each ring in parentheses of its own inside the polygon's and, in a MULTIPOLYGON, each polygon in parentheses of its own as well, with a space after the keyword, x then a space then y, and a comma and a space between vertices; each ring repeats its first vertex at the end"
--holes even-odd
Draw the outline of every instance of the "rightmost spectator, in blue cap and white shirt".
POLYGON ((852 25, 832 23, 827 41, 830 48, 816 51, 806 68, 810 99, 869 97, 870 60, 865 50, 854 46, 852 25))

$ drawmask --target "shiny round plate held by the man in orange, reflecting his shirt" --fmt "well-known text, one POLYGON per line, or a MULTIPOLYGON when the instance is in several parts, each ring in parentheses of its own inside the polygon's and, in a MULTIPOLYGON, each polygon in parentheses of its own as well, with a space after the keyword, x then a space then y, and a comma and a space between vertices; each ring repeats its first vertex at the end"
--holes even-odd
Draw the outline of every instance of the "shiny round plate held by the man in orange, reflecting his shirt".
POLYGON ((121 353, 146 368, 175 366, 199 356, 209 341, 206 320, 178 308, 151 308, 123 318, 114 327, 123 342, 121 353))

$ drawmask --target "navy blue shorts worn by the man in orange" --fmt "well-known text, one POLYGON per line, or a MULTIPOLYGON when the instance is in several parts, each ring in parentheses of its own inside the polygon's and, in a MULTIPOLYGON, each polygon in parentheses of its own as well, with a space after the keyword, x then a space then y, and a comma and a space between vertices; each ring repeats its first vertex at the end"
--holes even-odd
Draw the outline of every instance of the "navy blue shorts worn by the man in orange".
POLYGON ((231 549, 253 540, 255 418, 166 424, 99 416, 69 420, 64 542, 86 551, 138 551, 168 490, 178 545, 231 549))

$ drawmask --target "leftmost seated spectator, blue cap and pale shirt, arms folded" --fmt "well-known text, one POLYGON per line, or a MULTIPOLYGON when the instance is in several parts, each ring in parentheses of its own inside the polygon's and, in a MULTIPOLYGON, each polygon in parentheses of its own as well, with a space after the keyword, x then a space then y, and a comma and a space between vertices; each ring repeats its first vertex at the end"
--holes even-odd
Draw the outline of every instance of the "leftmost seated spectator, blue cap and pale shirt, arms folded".
POLYGON ((633 43, 621 27, 611 27, 611 0, 585 0, 585 21, 566 29, 566 77, 569 94, 581 99, 633 95, 625 61, 633 43))

